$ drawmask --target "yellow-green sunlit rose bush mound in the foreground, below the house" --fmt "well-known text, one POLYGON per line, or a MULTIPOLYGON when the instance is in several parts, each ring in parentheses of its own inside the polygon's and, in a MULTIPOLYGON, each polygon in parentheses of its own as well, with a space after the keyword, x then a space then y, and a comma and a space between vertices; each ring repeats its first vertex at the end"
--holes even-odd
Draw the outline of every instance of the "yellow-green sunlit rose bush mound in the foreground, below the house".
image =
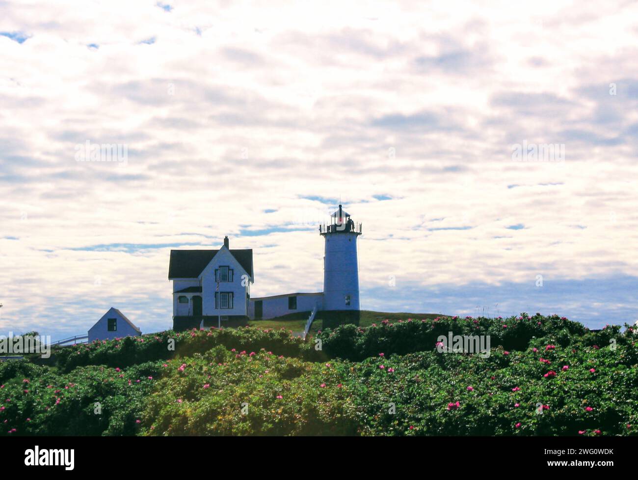
POLYGON ((147 435, 353 435, 343 371, 218 346, 168 363, 144 413, 147 435))

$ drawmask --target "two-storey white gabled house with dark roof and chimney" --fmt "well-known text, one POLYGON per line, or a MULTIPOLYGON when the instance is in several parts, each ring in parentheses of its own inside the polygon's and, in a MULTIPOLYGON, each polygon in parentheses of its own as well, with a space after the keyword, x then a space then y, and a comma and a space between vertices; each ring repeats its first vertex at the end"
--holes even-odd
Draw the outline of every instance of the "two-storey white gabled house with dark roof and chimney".
POLYGON ((173 328, 248 325, 253 250, 231 250, 228 237, 219 250, 171 250, 173 328))

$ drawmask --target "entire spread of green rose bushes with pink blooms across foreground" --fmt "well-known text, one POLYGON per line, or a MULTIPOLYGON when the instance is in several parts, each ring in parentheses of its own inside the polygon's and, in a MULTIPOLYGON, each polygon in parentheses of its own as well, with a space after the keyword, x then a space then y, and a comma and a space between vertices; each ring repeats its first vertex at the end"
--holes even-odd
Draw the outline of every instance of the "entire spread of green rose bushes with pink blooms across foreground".
POLYGON ((285 328, 167 331, 68 347, 56 368, 3 363, 0 435, 638 431, 629 326, 588 331, 538 314, 402 316, 369 312, 369 326, 306 342, 285 328), (489 356, 440 352, 449 331, 489 335, 489 356))

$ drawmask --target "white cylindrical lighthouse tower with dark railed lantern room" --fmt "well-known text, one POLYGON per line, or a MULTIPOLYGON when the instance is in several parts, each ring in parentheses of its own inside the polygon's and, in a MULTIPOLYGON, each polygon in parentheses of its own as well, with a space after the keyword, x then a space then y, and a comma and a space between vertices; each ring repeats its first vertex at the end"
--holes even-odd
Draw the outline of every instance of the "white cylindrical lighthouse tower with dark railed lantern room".
POLYGON ((330 225, 320 226, 319 232, 325 245, 322 317, 324 320, 354 320, 358 323, 360 305, 357 237, 361 234, 361 224, 355 225, 350 214, 339 205, 339 209, 330 216, 330 225))

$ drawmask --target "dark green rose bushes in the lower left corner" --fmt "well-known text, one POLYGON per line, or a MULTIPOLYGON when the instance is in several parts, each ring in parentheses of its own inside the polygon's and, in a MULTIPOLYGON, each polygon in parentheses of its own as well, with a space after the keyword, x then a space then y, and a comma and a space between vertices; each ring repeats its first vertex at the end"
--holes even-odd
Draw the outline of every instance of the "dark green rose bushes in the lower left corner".
POLYGON ((9 363, 22 365, 12 366, 18 375, 0 386, 0 419, 6 420, 0 436, 132 435, 161 371, 161 363, 142 363, 126 371, 88 366, 60 375, 24 361, 9 363))

